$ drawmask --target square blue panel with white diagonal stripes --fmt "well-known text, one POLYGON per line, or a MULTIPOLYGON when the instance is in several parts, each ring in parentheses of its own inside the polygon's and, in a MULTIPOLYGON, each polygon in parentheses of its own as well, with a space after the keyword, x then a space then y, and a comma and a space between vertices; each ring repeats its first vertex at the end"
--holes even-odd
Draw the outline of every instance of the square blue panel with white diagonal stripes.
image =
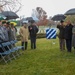
POLYGON ((47 39, 56 39, 56 29, 54 29, 54 28, 46 29, 46 38, 47 39))

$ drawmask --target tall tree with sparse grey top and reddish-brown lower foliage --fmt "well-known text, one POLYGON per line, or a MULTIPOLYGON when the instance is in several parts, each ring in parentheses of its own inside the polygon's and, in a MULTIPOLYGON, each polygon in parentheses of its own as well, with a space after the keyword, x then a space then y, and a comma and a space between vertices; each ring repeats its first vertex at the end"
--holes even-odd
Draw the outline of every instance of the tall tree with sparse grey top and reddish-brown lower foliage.
POLYGON ((41 7, 36 7, 36 9, 33 9, 33 16, 35 15, 36 18, 38 18, 38 22, 37 22, 37 25, 40 26, 40 25, 47 25, 49 20, 47 19, 47 13, 46 11, 41 8, 41 7))

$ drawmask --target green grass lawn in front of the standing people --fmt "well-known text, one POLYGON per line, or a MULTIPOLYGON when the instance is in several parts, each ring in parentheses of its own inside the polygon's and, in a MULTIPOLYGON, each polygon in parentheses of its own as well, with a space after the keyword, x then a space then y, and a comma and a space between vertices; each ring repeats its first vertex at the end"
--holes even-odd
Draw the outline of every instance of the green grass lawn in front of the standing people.
POLYGON ((37 39, 35 50, 30 49, 29 41, 28 50, 21 52, 16 60, 0 64, 0 75, 75 75, 74 50, 60 51, 58 39, 37 39))

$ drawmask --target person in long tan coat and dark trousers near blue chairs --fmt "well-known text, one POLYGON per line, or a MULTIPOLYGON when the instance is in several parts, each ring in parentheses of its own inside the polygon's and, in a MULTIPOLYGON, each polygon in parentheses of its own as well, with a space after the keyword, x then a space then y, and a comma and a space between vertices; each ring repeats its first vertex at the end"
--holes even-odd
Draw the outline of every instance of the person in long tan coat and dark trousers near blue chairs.
POLYGON ((19 31, 21 35, 21 45, 23 46, 22 50, 27 49, 28 45, 28 37, 29 37, 29 31, 28 31, 28 26, 27 23, 23 23, 23 26, 20 28, 19 31))

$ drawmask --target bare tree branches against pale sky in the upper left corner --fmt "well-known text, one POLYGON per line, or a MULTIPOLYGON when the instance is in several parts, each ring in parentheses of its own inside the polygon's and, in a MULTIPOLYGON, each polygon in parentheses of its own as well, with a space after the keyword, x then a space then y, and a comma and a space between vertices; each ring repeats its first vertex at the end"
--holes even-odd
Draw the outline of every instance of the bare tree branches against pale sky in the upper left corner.
POLYGON ((20 0, 0 0, 0 12, 10 10, 17 13, 21 7, 20 0))

